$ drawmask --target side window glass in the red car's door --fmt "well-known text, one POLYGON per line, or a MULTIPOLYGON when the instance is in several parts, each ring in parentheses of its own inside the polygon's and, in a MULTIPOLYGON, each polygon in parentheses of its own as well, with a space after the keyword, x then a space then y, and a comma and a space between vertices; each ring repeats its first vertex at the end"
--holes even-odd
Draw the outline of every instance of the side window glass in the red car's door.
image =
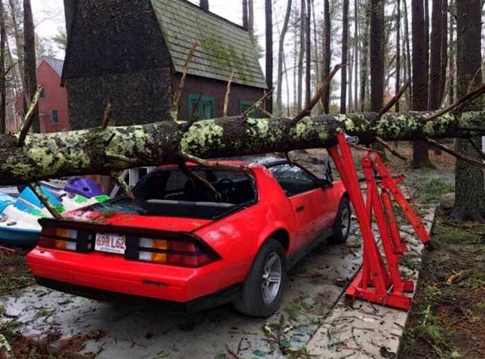
POLYGON ((318 187, 315 179, 296 165, 288 163, 277 165, 270 167, 270 172, 289 197, 315 190, 318 187))

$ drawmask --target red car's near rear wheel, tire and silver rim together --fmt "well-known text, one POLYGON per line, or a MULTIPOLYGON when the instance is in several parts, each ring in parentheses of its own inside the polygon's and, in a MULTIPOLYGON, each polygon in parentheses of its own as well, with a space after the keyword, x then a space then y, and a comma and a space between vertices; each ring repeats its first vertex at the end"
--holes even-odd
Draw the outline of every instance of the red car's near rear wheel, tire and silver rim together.
POLYGON ((244 283, 243 295, 234 302, 240 313, 270 317, 281 306, 288 285, 285 249, 269 239, 259 250, 244 283))

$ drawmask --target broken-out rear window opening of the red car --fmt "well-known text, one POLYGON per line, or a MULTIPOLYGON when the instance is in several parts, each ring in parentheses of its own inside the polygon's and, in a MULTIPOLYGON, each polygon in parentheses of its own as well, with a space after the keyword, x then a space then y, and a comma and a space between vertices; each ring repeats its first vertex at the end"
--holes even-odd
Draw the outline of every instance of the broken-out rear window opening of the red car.
POLYGON ((178 167, 145 176, 132 190, 135 200, 121 196, 91 210, 153 216, 215 219, 256 200, 254 178, 245 172, 191 167, 187 176, 178 167), (211 183, 213 189, 204 181, 211 183), (215 191, 214 191, 215 190, 215 191), (220 196, 219 196, 220 195, 220 196))

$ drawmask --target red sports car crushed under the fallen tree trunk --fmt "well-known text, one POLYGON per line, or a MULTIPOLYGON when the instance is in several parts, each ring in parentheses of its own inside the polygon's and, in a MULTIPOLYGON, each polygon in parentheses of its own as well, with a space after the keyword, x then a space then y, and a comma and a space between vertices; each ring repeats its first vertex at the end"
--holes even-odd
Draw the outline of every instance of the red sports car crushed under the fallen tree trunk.
POLYGON ((272 315, 288 268, 326 239, 346 241, 349 199, 328 160, 324 178, 277 158, 224 164, 247 170, 189 164, 196 176, 187 176, 164 166, 141 179, 134 200, 42 219, 27 257, 37 282, 109 302, 186 312, 233 302, 272 315))

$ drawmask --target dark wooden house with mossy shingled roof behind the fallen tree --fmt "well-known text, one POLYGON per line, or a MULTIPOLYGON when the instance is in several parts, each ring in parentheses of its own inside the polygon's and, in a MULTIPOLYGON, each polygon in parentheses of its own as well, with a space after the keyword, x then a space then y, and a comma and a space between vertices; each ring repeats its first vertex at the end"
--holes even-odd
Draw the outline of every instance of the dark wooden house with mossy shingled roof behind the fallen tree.
POLYGON ((168 119, 191 46, 197 50, 179 120, 228 115, 263 96, 265 77, 247 30, 186 0, 64 0, 68 45, 62 81, 72 129, 97 127, 107 102, 116 125, 168 119), (196 107, 197 106, 197 107, 196 107))

